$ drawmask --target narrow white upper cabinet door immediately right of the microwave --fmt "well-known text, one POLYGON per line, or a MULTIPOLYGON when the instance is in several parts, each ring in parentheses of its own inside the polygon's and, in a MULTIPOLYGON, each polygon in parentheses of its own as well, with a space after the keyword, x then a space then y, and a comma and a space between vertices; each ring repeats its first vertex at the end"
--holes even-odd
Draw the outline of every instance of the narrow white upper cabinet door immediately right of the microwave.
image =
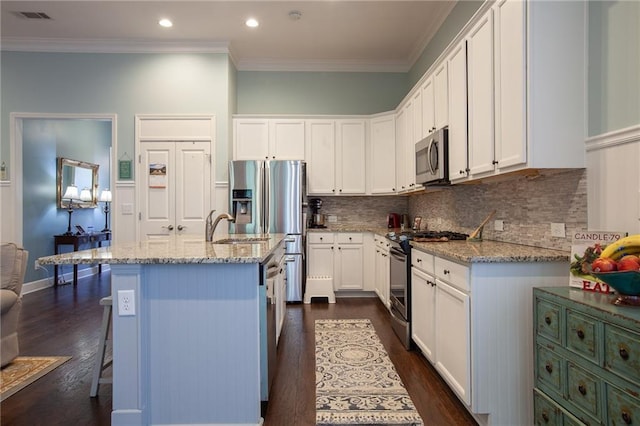
POLYGON ((460 42, 447 57, 449 72, 449 179, 467 178, 467 43, 460 42))

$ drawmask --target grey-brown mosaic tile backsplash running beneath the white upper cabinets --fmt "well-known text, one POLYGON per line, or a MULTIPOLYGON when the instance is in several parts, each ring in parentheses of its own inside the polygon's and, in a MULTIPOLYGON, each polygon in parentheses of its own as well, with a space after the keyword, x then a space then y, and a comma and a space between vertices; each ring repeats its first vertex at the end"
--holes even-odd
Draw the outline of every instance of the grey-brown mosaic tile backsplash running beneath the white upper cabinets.
POLYGON ((385 227, 390 212, 422 217, 422 228, 471 233, 496 210, 483 238, 536 247, 570 250, 575 231, 587 229, 585 169, 542 172, 502 182, 453 185, 405 196, 320 197, 321 213, 338 223, 385 227), (494 221, 504 221, 495 231, 494 221), (565 224, 566 237, 552 237, 551 223, 565 224))

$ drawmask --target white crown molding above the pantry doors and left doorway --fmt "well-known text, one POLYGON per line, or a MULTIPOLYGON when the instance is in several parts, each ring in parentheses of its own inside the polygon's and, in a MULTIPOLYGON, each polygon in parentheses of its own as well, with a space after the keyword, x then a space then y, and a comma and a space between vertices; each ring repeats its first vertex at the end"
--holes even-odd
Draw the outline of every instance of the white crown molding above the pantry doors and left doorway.
POLYGON ((3 37, 0 49, 51 53, 229 53, 229 43, 3 37))

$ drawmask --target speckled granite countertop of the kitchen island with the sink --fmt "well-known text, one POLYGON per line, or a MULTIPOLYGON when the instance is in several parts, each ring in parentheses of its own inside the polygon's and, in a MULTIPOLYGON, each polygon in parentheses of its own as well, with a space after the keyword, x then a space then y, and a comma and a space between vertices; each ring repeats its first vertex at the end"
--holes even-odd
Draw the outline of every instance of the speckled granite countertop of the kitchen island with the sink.
POLYGON ((200 236, 173 236, 138 242, 116 243, 70 253, 41 257, 37 265, 260 263, 284 241, 286 234, 234 234, 215 236, 206 242, 200 236), (216 244, 224 238, 268 238, 259 243, 216 244))

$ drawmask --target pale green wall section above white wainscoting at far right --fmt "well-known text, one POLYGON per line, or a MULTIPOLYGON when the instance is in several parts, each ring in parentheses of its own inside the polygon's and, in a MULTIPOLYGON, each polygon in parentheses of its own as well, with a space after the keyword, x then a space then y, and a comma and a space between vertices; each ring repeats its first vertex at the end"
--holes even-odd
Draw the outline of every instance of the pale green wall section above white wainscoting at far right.
POLYGON ((589 2, 589 136, 640 124, 640 1, 589 2))

